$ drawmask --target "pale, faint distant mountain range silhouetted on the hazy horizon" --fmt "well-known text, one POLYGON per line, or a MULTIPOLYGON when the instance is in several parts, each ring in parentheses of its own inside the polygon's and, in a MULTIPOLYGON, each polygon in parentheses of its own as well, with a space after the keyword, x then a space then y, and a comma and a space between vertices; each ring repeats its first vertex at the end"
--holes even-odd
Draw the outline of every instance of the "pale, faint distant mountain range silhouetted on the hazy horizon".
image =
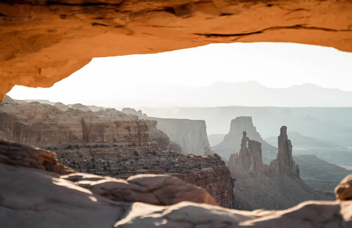
POLYGON ((164 85, 146 88, 145 106, 278 106, 350 107, 352 92, 327 89, 313 84, 268 88, 255 81, 218 81, 204 87, 164 85))

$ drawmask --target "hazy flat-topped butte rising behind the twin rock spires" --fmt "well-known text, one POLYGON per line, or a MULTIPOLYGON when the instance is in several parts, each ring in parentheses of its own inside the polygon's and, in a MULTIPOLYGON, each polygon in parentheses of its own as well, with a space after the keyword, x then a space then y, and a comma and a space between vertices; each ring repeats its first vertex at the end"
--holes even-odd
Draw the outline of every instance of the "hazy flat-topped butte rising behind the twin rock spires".
POLYGON ((242 132, 246 131, 248 137, 262 144, 263 160, 270 162, 276 155, 277 149, 266 143, 253 125, 252 117, 239 116, 231 121, 230 131, 225 135, 224 140, 211 149, 220 155, 224 160, 228 160, 231 154, 238 153, 241 149, 242 132))

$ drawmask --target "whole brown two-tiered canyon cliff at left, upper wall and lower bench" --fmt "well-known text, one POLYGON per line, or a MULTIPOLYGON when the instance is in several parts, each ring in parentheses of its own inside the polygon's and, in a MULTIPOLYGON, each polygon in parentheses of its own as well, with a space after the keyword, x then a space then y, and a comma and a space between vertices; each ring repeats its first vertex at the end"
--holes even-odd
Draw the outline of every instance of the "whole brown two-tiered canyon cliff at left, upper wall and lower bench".
MULTIPOLYGON (((157 121, 141 120, 131 109, 130 114, 113 108, 92 112, 82 104, 71 105, 76 109, 56 104, 18 103, 7 96, 0 103, 0 136, 52 149, 59 162, 87 173, 124 179, 167 173, 203 187, 219 205, 234 208, 234 178, 209 147, 207 156, 177 152, 181 147, 157 129, 157 121)), ((201 152, 205 155, 204 147, 201 152)))

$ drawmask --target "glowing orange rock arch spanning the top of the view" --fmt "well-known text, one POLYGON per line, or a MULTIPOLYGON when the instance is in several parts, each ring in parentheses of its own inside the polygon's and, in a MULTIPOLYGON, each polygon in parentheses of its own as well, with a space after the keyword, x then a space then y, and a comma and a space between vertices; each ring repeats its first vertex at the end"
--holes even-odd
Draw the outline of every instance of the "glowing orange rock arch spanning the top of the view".
POLYGON ((93 57, 259 41, 352 51, 351 12, 350 0, 5 0, 0 99, 14 85, 50 87, 93 57))

